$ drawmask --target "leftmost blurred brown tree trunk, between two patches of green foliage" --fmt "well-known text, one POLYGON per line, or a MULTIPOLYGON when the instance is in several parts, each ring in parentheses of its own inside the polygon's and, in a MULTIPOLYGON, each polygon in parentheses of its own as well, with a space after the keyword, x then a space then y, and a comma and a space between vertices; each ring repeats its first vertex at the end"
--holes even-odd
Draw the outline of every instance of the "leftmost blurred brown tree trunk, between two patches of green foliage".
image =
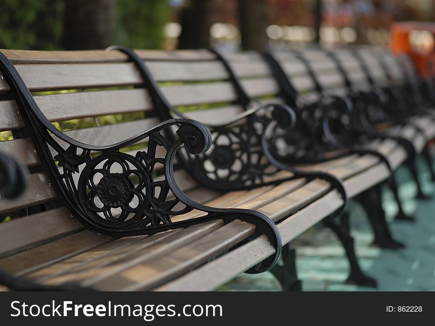
POLYGON ((112 44, 115 0, 65 0, 62 46, 67 50, 112 44))

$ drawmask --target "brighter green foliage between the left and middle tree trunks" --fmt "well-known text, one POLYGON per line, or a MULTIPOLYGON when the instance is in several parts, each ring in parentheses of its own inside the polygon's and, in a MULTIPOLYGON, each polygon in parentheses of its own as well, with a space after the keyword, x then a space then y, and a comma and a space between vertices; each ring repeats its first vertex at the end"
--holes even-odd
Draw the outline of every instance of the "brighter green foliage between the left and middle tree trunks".
POLYGON ((167 0, 117 0, 115 43, 133 48, 161 48, 168 21, 167 0))

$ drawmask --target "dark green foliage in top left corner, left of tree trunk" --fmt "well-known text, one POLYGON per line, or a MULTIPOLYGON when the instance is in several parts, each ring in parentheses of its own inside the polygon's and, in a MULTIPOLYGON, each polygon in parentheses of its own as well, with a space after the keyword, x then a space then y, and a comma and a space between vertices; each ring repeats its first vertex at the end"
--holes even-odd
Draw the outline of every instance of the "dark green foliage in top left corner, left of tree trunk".
POLYGON ((60 48, 63 1, 1 0, 0 48, 60 48))

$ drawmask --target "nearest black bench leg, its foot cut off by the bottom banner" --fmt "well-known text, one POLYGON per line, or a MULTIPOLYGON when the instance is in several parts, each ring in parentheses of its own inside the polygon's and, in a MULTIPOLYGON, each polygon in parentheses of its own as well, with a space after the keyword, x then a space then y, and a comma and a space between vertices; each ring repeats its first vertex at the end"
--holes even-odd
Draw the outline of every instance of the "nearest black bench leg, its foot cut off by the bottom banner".
POLYGON ((302 291, 302 281, 296 272, 296 250, 290 248, 290 243, 282 248, 283 265, 276 264, 270 272, 281 283, 283 291, 302 291))

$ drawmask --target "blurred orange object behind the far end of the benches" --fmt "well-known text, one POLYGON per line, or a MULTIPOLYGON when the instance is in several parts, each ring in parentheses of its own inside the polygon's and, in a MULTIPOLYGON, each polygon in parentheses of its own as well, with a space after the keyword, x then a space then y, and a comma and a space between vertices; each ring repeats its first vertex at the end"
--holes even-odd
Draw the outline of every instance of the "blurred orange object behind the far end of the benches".
POLYGON ((391 50, 411 56, 419 74, 435 75, 435 23, 397 22, 391 26, 391 50))

